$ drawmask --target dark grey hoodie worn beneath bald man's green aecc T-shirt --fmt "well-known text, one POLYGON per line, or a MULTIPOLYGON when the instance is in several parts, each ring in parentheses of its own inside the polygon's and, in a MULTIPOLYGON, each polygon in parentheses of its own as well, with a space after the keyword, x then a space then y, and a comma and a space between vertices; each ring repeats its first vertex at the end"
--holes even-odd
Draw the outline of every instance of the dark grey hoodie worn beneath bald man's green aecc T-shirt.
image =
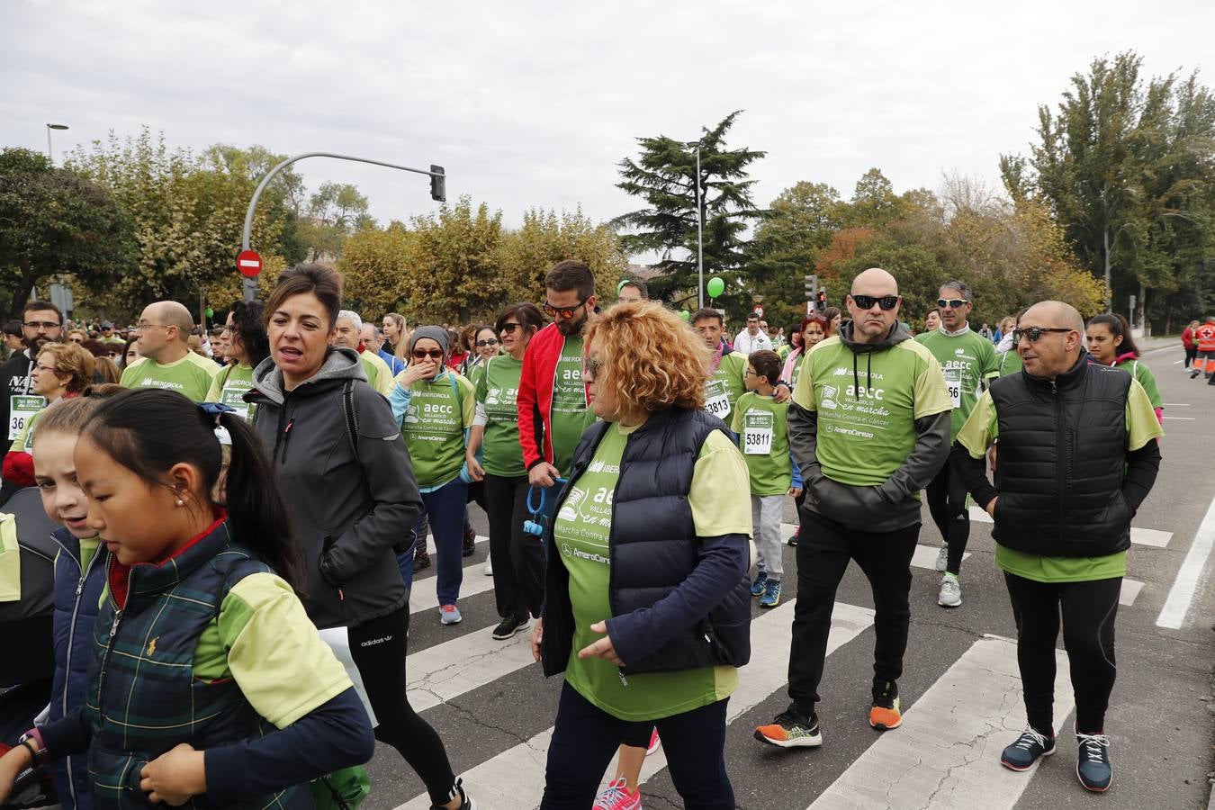
MULTIPOLYGON (((858 344, 852 339, 852 323, 840 329, 840 342, 853 352, 857 385, 865 384, 870 357, 888 351, 911 335, 899 324, 885 339, 858 344)), ((796 402, 789 404, 789 447, 802 470, 806 487, 804 509, 827 520, 863 532, 894 532, 920 522, 919 492, 928 486, 949 458, 949 410, 915 421, 915 448, 903 465, 872 487, 854 487, 832 481, 823 474, 816 454, 819 415, 796 402)))

